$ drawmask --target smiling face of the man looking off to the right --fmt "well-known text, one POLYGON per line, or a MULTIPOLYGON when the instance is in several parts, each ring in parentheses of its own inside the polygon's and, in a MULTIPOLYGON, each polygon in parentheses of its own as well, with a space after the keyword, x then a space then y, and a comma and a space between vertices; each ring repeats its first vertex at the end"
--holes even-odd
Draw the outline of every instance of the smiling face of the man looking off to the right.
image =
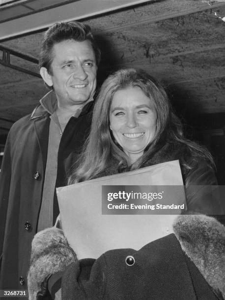
POLYGON ((50 84, 58 105, 84 106, 96 88, 96 59, 89 41, 65 40, 54 45, 50 84))

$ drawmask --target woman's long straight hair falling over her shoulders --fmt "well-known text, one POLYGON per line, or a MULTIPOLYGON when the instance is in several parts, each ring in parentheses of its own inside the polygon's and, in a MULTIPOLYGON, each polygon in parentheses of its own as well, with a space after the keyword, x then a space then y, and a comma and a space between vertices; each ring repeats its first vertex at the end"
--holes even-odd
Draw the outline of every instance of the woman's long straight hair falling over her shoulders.
POLYGON ((84 144, 83 153, 72 168, 68 184, 96 177, 106 170, 112 157, 119 161, 118 167, 124 167, 125 170, 128 170, 128 167, 129 170, 139 169, 162 145, 175 141, 185 144, 189 152, 188 156, 193 156, 191 163, 185 161, 185 158, 180 162, 186 170, 192 169, 199 157, 205 158, 213 165, 212 156, 206 149, 183 137, 181 122, 174 114, 167 93, 159 82, 143 70, 119 70, 110 75, 101 87, 94 106, 89 137, 84 144), (128 156, 114 141, 109 124, 109 112, 115 92, 129 87, 140 87, 153 102, 157 115, 153 141, 131 166, 129 166, 128 156))

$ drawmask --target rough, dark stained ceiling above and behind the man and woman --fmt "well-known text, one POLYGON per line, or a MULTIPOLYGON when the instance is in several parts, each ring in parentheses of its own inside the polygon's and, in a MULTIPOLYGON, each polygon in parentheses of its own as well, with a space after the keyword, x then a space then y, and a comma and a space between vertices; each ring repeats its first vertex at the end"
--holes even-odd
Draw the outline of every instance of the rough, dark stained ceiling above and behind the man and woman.
MULTIPOLYGON (((142 68, 163 81, 179 113, 211 116, 216 128, 225 125, 223 17, 225 1, 152 0, 76 20, 91 26, 103 51, 99 82, 121 67, 142 68)), ((0 64, 0 143, 47 92, 38 77, 42 36, 35 30, 0 40, 0 57, 14 65, 0 64)))

